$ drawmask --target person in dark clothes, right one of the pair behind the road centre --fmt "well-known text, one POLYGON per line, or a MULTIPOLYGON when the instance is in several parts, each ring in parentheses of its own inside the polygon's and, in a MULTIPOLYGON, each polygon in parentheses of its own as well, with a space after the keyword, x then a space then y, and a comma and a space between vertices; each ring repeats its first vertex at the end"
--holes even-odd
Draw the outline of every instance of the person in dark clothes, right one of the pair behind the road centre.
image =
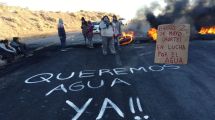
POLYGON ((88 21, 87 39, 88 47, 93 48, 93 24, 91 21, 88 21))

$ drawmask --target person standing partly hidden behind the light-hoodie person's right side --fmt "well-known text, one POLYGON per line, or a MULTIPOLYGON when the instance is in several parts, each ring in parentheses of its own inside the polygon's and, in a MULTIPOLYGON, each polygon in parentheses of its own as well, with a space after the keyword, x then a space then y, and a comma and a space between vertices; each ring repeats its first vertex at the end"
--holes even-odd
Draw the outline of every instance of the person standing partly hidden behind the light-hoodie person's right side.
POLYGON ((116 15, 113 15, 113 28, 114 28, 114 42, 116 45, 116 48, 119 50, 120 49, 120 44, 119 44, 119 36, 122 34, 122 29, 121 29, 121 22, 117 19, 116 15))

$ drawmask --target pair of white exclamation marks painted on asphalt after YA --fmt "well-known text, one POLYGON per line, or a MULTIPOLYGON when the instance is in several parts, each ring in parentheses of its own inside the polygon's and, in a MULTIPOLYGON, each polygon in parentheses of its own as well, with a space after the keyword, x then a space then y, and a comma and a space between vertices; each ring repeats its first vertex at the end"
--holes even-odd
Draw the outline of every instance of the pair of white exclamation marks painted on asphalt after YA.
MULTIPOLYGON (((140 99, 138 97, 136 98, 136 103, 137 103, 138 110, 140 112, 143 112, 143 109, 142 109, 142 106, 141 106, 141 103, 140 103, 140 99)), ((133 101, 132 97, 129 98, 129 107, 130 107, 131 113, 135 114, 136 111, 135 111, 134 101, 133 101)), ((143 119, 148 120, 149 116, 148 115, 144 115, 143 118, 141 118, 140 116, 135 116, 134 117, 134 120, 143 120, 143 119)))

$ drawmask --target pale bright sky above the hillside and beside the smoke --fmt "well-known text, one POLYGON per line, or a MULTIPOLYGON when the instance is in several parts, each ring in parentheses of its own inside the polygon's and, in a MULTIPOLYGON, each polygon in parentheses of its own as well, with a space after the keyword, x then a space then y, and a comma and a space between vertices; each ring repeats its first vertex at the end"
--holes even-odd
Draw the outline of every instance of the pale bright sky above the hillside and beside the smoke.
POLYGON ((8 5, 28 7, 32 10, 103 11, 113 12, 126 19, 133 18, 138 9, 154 1, 162 0, 0 0, 8 5))

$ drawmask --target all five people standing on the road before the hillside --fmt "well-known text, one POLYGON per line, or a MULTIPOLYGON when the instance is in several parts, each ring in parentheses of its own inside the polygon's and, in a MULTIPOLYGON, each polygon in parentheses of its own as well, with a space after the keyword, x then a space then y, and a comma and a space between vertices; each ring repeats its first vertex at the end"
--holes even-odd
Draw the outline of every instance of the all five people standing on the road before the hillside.
MULTIPOLYGON (((119 37, 121 35, 122 23, 117 19, 116 15, 113 15, 112 21, 108 16, 102 17, 99 28, 102 37, 102 52, 107 55, 108 48, 111 54, 116 54, 116 48, 120 49, 119 37)), ((81 29, 85 40, 85 44, 89 48, 93 48, 93 28, 94 25, 91 21, 87 21, 84 17, 81 18, 81 29)), ((63 20, 60 18, 58 22, 58 35, 61 41, 61 47, 66 46, 66 32, 64 28, 63 20)))

